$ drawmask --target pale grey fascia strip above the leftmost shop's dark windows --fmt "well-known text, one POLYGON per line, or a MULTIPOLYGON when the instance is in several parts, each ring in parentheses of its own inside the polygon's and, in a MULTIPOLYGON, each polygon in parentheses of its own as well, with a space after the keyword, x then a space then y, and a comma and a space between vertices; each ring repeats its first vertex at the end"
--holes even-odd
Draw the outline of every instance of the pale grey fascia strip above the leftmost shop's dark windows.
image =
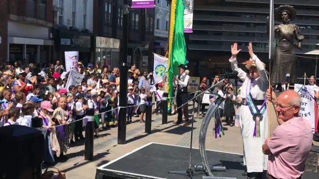
POLYGON ((54 45, 53 40, 24 38, 24 37, 8 37, 9 44, 27 44, 27 45, 54 45))

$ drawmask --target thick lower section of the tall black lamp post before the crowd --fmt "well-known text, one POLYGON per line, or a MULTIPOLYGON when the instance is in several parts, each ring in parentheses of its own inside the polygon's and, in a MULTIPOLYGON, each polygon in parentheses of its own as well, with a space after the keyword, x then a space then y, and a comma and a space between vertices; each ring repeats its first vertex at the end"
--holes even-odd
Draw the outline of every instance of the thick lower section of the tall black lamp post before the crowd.
POLYGON ((128 66, 123 63, 120 66, 120 110, 118 126, 118 144, 126 143, 126 108, 128 106, 128 66))

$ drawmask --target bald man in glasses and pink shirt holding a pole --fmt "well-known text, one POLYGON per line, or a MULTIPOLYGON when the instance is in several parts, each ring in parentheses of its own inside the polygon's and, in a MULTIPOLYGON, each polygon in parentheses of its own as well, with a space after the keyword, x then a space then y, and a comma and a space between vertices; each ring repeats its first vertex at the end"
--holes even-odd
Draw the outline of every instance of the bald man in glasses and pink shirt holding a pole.
POLYGON ((269 155, 267 179, 301 179, 313 142, 310 122, 299 116, 301 96, 286 90, 277 99, 269 89, 266 95, 275 104, 279 123, 262 147, 263 153, 269 155))

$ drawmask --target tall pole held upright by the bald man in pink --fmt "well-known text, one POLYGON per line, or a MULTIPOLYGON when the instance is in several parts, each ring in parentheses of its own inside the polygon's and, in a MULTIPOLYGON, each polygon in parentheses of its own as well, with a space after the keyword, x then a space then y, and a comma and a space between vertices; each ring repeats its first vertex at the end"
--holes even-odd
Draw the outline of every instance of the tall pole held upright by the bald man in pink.
MULTIPOLYGON (((271 83, 270 83, 270 74, 271 74, 271 60, 274 58, 274 0, 270 0, 270 13, 269 13, 269 88, 271 95, 272 95, 272 89, 271 89, 271 83)), ((270 137, 270 106, 271 101, 268 101, 268 137, 270 137)))

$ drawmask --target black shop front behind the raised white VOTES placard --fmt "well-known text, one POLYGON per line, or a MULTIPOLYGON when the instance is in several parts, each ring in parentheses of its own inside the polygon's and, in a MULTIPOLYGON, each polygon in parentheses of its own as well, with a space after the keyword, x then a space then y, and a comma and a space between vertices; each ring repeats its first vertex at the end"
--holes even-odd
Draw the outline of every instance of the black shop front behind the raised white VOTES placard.
POLYGON ((78 51, 79 62, 84 66, 92 63, 92 45, 94 36, 90 33, 79 32, 75 30, 56 29, 55 30, 55 58, 65 64, 64 52, 78 51))

